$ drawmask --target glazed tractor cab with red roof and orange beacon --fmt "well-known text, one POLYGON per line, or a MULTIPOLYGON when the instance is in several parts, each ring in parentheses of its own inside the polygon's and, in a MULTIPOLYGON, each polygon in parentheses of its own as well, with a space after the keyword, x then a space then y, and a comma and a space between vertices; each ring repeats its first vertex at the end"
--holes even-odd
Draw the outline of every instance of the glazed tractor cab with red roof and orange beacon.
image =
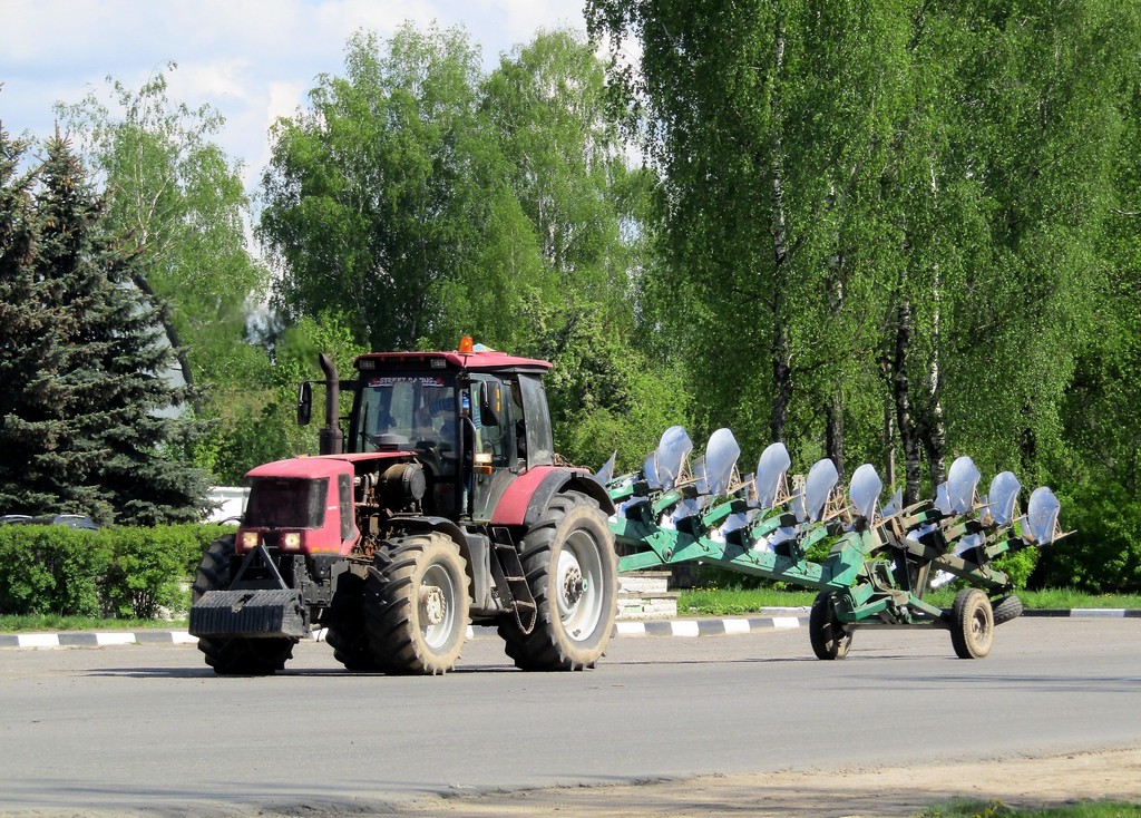
POLYGON ((408 452, 423 467, 423 512, 484 523, 519 475, 553 464, 543 361, 480 349, 369 353, 356 359, 345 448, 408 452))

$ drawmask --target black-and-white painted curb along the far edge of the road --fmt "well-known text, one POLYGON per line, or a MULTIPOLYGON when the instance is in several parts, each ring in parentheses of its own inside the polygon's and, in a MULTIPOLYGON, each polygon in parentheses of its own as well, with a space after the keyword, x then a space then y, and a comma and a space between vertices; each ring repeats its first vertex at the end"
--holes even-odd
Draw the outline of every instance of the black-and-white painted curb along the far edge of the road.
MULTIPOLYGON (((720 637, 758 631, 807 627, 808 616, 801 609, 791 609, 783 616, 730 617, 723 619, 652 619, 645 622, 616 622, 614 637, 720 637)), ((1023 610, 1022 616, 1057 618, 1141 618, 1141 609, 1130 608, 1037 608, 1023 610)), ((468 639, 495 635, 494 627, 468 626, 468 639)), ((324 631, 313 639, 322 641, 324 631)), ((89 631, 65 633, 2 633, 0 648, 103 648, 116 645, 196 645, 197 638, 186 631, 89 631)))

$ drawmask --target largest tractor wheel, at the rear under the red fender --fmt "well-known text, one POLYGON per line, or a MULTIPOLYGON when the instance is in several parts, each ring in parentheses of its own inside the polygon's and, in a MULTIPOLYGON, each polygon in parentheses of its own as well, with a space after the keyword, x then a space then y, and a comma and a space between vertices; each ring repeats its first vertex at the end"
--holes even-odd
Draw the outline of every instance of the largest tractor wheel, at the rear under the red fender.
POLYGON ((523 569, 537 606, 531 633, 500 621, 507 655, 526 671, 593 667, 617 615, 618 570, 606 515, 584 494, 558 494, 523 538, 523 569))

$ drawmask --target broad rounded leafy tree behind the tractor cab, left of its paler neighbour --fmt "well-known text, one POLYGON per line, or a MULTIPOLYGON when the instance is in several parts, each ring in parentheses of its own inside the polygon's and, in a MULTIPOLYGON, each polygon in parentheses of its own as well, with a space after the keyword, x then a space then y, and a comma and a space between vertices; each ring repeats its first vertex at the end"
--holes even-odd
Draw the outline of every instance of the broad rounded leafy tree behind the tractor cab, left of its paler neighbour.
POLYGON ((354 35, 347 76, 322 75, 309 110, 275 124, 259 229, 290 319, 335 310, 358 342, 411 349, 437 330, 440 292, 480 281, 474 250, 502 224, 505 188, 478 111, 478 50, 408 25, 386 44, 354 35))

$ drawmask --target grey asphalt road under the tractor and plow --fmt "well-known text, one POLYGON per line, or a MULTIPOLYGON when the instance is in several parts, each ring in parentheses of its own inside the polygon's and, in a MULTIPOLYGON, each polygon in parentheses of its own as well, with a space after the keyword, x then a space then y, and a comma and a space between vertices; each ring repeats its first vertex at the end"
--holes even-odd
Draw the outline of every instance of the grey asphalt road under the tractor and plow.
POLYGON ((0 813, 383 812, 428 794, 998 759, 1141 745, 1141 619, 946 632, 620 638, 592 672, 528 674, 499 641, 455 673, 217 678, 193 646, 0 650, 0 813))

